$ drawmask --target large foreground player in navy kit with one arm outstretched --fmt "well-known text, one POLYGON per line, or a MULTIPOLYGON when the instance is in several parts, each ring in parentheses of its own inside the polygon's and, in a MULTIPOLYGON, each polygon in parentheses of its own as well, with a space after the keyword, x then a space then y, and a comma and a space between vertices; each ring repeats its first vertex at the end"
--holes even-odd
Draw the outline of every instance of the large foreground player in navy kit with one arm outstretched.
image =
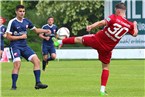
POLYGON ((24 57, 26 60, 31 61, 34 64, 34 76, 36 80, 35 89, 44 89, 48 85, 42 84, 40 81, 40 60, 35 52, 27 45, 27 29, 33 30, 37 34, 48 33, 50 30, 44 30, 36 28, 25 16, 25 7, 23 5, 16 6, 16 17, 11 19, 7 27, 7 39, 10 40, 10 48, 13 58, 13 70, 12 70, 12 90, 16 90, 16 82, 18 79, 18 73, 21 66, 20 57, 24 57))

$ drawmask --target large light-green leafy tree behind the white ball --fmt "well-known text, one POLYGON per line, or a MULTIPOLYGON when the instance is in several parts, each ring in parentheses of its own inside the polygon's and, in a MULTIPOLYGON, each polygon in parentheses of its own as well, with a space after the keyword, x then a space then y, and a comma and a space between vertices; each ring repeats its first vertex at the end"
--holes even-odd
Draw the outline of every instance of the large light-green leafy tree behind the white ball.
POLYGON ((55 23, 59 27, 66 26, 72 32, 71 34, 83 35, 86 33, 86 25, 103 19, 104 1, 40 0, 36 7, 37 15, 42 18, 54 16, 55 23))

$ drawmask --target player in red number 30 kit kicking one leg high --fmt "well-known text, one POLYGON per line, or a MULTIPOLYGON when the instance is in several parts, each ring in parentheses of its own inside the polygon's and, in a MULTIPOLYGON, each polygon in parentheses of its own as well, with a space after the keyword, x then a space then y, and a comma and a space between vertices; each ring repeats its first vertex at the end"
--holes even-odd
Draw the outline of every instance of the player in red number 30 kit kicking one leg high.
POLYGON ((99 60, 102 62, 100 95, 106 95, 105 87, 109 77, 109 63, 112 50, 126 33, 134 37, 138 34, 137 22, 130 22, 125 17, 126 6, 124 3, 118 3, 115 5, 115 14, 86 27, 87 31, 90 31, 93 28, 105 26, 104 29, 98 31, 96 34, 70 37, 58 41, 54 39, 56 46, 59 44, 81 43, 98 51, 99 60))

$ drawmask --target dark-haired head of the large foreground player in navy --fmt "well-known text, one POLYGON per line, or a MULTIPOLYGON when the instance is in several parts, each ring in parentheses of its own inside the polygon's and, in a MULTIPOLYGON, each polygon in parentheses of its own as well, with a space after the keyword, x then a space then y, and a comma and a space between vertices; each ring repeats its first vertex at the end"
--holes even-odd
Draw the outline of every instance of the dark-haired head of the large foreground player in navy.
POLYGON ((17 18, 22 19, 25 15, 25 6, 17 5, 15 11, 16 11, 17 18))

